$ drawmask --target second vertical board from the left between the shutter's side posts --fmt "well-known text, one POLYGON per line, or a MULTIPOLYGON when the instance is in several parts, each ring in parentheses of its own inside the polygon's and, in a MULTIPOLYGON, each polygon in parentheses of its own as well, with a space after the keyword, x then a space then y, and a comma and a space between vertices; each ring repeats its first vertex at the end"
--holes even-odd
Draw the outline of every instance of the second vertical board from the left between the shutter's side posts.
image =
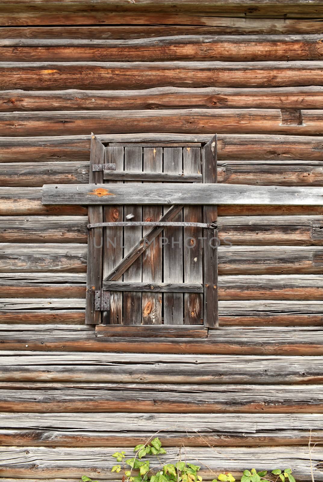
MULTIPOLYGON (((125 147, 125 171, 142 171, 142 147, 125 147)), ((136 181, 127 181, 133 184, 136 181)), ((133 214, 131 221, 142 221, 141 205, 126 205, 124 218, 133 214)), ((142 227, 124 228, 124 252, 128 253, 142 239, 142 227)), ((123 281, 142 281, 142 256, 136 259, 123 275, 123 281)), ((142 294, 125 291, 123 294, 123 323, 138 325, 142 322, 142 294)))

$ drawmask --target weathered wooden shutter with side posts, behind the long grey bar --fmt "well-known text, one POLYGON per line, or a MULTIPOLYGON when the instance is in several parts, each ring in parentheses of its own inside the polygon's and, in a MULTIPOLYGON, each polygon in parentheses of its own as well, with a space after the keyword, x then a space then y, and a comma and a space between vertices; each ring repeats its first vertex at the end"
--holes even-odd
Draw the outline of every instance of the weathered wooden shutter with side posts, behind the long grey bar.
MULTIPOLYGON (((90 184, 156 182, 157 189, 215 183, 216 174, 215 137, 204 145, 108 146, 92 138, 90 184)), ((86 322, 217 326, 216 222, 214 205, 89 206, 86 322)))

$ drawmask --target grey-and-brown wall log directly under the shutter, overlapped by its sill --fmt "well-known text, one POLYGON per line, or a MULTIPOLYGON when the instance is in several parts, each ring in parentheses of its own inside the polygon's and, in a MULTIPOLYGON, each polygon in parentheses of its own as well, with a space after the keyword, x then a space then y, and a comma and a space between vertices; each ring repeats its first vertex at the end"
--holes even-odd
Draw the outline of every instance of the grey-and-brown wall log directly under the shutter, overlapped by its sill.
MULTIPOLYGON (((322 324, 322 323, 321 323, 322 324)), ((0 325, 3 350, 125 351, 248 355, 323 355, 321 327, 225 327, 207 339, 105 337, 84 325, 0 325), (14 328, 14 329, 13 329, 14 328)), ((133 407, 132 407, 133 408, 133 407)), ((86 409, 85 409, 86 410, 86 409)), ((36 410, 37 411, 37 410, 36 410)), ((58 410, 59 411, 59 410, 58 410)))

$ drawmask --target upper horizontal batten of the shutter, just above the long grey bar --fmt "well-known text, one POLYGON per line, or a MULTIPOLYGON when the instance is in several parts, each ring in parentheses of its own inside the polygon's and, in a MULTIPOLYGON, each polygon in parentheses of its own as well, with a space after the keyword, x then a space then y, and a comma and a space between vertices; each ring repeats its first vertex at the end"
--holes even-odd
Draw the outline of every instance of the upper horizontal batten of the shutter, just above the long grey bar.
MULTIPOLYGON (((161 149, 161 147, 156 147, 161 149)), ((160 182, 202 182, 201 174, 170 174, 158 172, 104 171, 103 179, 124 179, 126 181, 160 181, 160 182)))

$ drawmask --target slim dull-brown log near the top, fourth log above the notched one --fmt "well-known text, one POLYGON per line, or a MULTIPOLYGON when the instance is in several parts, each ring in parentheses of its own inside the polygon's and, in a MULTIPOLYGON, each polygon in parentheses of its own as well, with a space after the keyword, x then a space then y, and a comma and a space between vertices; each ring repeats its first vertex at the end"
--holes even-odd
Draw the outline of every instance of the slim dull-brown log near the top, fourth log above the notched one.
MULTIPOLYGON (((247 15, 247 14, 246 14, 247 15)), ((187 19, 187 17, 186 17, 187 19)), ((187 19, 188 20, 188 19, 187 19)), ((196 19, 197 20, 197 19, 196 19)), ((199 19, 199 24, 202 18, 199 19)), ((203 25, 0 27, 1 39, 146 39, 171 35, 320 34, 318 19, 205 16, 203 25)))

